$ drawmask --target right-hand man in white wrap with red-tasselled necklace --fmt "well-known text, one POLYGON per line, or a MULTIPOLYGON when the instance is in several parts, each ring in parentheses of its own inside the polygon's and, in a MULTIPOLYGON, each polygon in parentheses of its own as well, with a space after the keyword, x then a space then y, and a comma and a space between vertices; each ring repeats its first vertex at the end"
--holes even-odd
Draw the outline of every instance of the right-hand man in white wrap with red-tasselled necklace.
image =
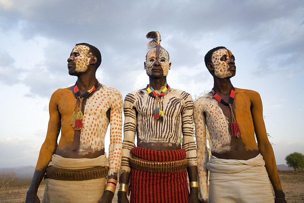
POLYGON ((193 102, 200 201, 286 202, 265 129, 261 97, 256 91, 232 86, 234 60, 223 46, 206 54, 214 86, 193 102), (212 143, 210 160, 206 126, 212 143))

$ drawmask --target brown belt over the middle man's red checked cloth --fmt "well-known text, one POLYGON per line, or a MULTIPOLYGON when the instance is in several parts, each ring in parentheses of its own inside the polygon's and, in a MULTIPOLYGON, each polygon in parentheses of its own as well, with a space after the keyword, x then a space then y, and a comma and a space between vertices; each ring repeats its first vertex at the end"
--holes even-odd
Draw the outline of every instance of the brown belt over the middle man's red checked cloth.
POLYGON ((149 161, 132 155, 129 161, 133 169, 150 173, 175 173, 185 170, 188 166, 187 159, 176 161, 149 161))

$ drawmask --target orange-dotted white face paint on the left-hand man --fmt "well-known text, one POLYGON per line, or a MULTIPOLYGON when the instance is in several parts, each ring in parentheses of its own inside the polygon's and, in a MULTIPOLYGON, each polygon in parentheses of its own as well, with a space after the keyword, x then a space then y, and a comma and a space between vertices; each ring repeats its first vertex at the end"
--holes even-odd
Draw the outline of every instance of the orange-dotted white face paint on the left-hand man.
POLYGON ((90 48, 84 45, 77 45, 73 49, 73 53, 77 53, 75 57, 76 72, 85 72, 88 69, 89 62, 91 60, 90 48))

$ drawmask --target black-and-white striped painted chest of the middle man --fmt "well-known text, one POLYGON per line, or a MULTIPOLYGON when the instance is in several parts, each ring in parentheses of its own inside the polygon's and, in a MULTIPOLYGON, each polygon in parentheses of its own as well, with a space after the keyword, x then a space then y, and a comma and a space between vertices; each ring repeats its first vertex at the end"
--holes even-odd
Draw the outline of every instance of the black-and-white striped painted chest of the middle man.
POLYGON ((160 109, 164 112, 164 122, 154 121, 155 98, 148 95, 146 90, 133 91, 128 96, 134 100, 137 112, 137 145, 166 143, 180 148, 181 112, 185 108, 188 93, 171 89, 167 95, 161 97, 160 109))

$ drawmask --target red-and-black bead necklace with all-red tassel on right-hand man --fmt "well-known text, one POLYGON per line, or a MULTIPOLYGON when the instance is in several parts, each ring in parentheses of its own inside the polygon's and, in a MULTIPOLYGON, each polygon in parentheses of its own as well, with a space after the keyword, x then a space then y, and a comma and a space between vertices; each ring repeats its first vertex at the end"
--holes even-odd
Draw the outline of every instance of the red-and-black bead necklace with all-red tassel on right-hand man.
POLYGON ((213 95, 213 97, 219 101, 220 103, 229 106, 230 110, 231 110, 231 115, 232 115, 232 122, 231 122, 231 136, 233 137, 241 137, 241 131, 240 131, 240 127, 239 124, 237 124, 236 119, 234 118, 233 112, 232 112, 232 104, 234 101, 234 95, 235 95, 235 90, 234 87, 232 86, 231 88, 231 92, 230 92, 230 97, 228 100, 228 103, 226 101, 224 101, 218 94, 215 93, 215 91, 212 88, 211 94, 213 95))

